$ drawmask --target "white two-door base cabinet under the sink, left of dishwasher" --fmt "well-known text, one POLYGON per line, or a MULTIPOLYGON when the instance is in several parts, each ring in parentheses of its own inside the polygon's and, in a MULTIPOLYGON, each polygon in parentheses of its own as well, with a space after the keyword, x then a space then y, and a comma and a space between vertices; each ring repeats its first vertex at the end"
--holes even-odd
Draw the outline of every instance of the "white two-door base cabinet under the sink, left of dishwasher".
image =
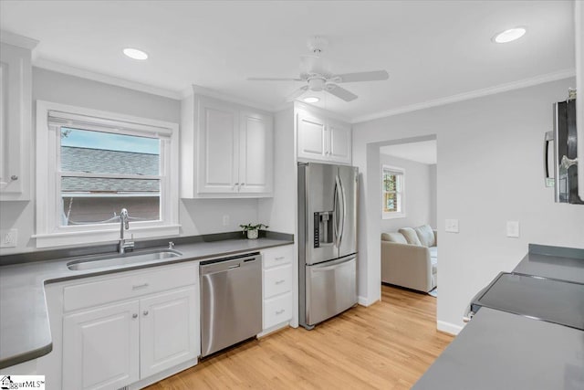
POLYGON ((119 389, 196 364, 198 264, 96 279, 63 287, 63 389, 119 389))

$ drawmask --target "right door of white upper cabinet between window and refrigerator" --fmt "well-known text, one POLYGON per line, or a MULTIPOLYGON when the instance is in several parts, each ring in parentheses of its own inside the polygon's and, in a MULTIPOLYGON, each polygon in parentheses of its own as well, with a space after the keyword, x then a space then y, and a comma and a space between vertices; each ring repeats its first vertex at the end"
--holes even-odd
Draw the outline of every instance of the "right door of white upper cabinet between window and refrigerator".
POLYGON ((274 177, 272 118, 241 111, 239 121, 239 192, 271 193, 274 177))

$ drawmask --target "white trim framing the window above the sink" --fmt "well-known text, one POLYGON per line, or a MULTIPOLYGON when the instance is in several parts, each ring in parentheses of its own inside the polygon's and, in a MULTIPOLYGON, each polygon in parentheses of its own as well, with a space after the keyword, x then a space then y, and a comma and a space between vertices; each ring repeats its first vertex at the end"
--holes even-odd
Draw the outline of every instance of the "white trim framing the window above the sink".
MULTIPOLYGON (((162 153, 161 170, 168 177, 165 180, 165 193, 168 201, 162 202, 160 221, 130 222, 126 237, 134 238, 177 236, 179 225, 179 125, 167 121, 124 115, 116 112, 98 111, 69 106, 50 101, 36 100, 36 248, 49 248, 96 242, 118 241, 120 224, 99 226, 59 227, 60 202, 57 196, 57 156, 58 151, 48 147, 58 146, 57 132, 48 125, 49 111, 67 113, 71 117, 87 116, 99 119, 99 124, 108 121, 126 122, 130 128, 142 132, 152 132, 168 137, 162 142, 170 142, 169 156, 162 153), (52 205, 49 204, 52 202, 52 205)), ((124 125, 125 128, 125 125, 124 125)))

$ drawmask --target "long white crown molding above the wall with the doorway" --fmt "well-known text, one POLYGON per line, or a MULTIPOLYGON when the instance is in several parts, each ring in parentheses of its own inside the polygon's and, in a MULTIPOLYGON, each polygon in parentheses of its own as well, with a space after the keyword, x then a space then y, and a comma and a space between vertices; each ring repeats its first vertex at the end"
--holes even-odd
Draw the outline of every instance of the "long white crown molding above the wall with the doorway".
POLYGON ((388 111, 381 111, 369 115, 354 117, 352 118, 351 123, 354 124, 363 121, 373 121, 376 119, 387 118, 405 112, 419 111, 429 109, 432 107, 443 106, 445 104, 455 103, 458 101, 471 100, 475 98, 481 98, 484 96, 495 95, 497 93, 506 92, 509 90, 520 90, 522 88, 533 87, 538 84, 544 84, 546 82, 556 81, 558 79, 568 79, 574 76, 576 76, 576 69, 558 70, 557 72, 547 73, 529 79, 520 79, 506 84, 499 84, 482 90, 471 90, 470 92, 459 93, 456 95, 447 96, 436 100, 422 101, 421 103, 402 106, 388 111))

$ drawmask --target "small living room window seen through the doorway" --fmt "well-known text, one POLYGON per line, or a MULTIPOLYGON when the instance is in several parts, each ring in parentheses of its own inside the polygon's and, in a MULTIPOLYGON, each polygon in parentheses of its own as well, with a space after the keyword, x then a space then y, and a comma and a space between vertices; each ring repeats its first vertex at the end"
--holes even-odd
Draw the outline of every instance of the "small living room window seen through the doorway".
POLYGON ((381 170, 381 211, 383 219, 405 216, 404 176, 401 168, 383 165, 381 170))

